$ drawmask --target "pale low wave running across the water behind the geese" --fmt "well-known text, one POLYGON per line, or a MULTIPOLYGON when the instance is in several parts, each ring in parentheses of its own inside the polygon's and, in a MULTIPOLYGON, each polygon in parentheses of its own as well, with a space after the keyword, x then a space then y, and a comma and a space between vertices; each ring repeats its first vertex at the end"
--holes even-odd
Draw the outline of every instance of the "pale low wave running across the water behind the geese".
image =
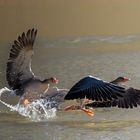
POLYGON ((45 47, 75 47, 81 44, 95 44, 95 43, 112 43, 112 44, 123 44, 134 42, 140 39, 140 34, 132 34, 132 35, 113 35, 113 36, 84 36, 84 37, 67 37, 67 38, 59 38, 51 41, 43 41, 45 42, 45 47))

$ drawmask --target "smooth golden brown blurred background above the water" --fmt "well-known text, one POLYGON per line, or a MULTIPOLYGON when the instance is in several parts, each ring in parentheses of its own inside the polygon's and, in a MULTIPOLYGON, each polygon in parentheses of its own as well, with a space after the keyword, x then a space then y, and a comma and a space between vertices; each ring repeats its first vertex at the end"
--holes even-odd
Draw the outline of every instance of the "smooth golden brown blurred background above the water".
POLYGON ((41 38, 140 32, 140 0, 0 0, 0 41, 28 28, 41 38))

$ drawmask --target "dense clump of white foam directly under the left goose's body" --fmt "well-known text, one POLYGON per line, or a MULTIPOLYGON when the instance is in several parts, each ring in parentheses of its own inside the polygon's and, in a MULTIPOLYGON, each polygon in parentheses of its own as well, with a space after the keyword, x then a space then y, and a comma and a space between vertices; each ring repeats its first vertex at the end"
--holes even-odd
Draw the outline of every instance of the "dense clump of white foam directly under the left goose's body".
MULTIPOLYGON (((29 117, 32 121, 44 121, 56 117, 56 108, 51 108, 52 102, 45 99, 38 99, 27 105, 17 104, 17 111, 25 117, 29 117)), ((14 110, 13 110, 14 111, 14 110)))

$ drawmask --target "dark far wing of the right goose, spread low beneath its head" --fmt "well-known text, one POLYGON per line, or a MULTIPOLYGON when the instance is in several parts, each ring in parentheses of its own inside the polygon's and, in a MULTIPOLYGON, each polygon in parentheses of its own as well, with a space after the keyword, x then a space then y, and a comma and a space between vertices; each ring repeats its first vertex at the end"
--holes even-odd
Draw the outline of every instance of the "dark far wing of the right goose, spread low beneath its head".
POLYGON ((129 88, 126 90, 124 97, 104 102, 93 102, 86 104, 86 107, 100 108, 100 107, 118 107, 118 108, 133 108, 140 105, 140 90, 129 88))

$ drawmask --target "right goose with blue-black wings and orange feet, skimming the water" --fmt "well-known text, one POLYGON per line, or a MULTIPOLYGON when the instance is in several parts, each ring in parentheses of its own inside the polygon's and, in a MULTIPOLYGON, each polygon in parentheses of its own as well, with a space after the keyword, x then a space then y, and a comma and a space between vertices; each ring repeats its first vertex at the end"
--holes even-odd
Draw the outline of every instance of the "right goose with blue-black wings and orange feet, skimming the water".
MULTIPOLYGON (((80 109, 90 116, 94 116, 94 112, 85 108, 85 99, 93 101, 93 103, 87 105, 90 107, 92 104, 108 104, 108 102, 111 104, 115 102, 116 106, 118 105, 121 108, 137 107, 140 100, 139 90, 134 88, 126 89, 119 85, 121 82, 128 80, 126 77, 119 77, 112 82, 107 82, 91 75, 86 76, 72 86, 64 99, 82 99, 80 109)), ((71 106, 67 108, 67 110, 69 109, 71 109, 71 106)))

